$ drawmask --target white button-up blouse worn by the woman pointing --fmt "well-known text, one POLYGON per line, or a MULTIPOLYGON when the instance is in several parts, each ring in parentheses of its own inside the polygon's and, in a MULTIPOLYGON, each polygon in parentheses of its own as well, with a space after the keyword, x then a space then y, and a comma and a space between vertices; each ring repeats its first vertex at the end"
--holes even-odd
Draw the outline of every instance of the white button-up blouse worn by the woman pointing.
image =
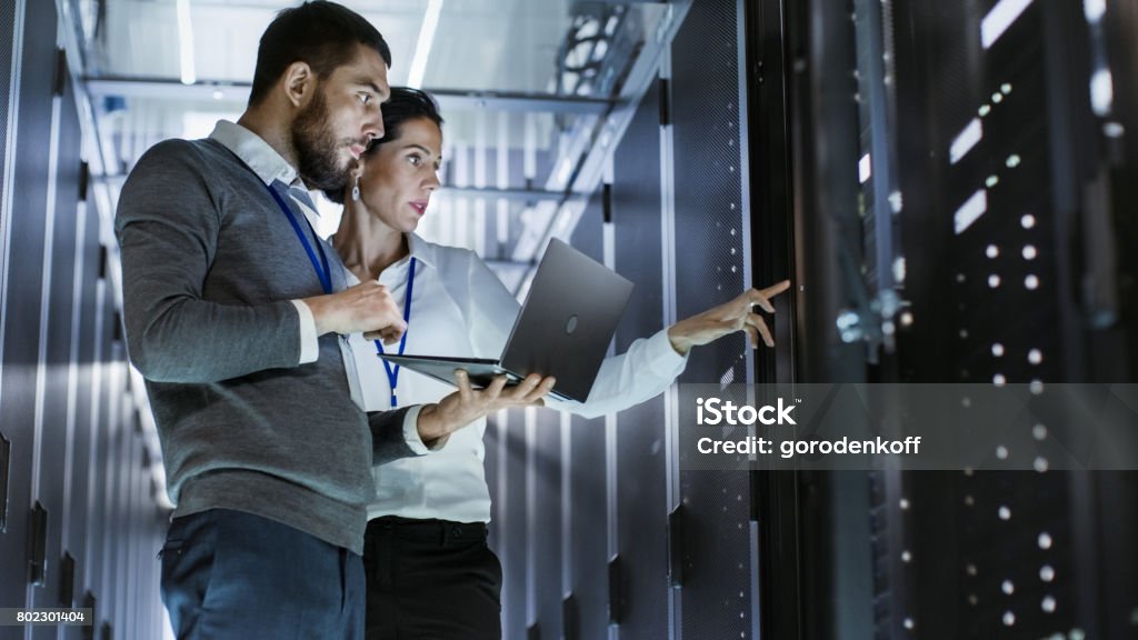
MULTIPOLYGON (((415 279, 404 353, 498 358, 521 306, 493 271, 471 251, 428 243, 409 236, 415 279)), ((406 257, 384 270, 386 286, 399 309, 406 300, 406 257)), ((349 273, 349 284, 357 280, 349 273)), ((365 411, 391 407, 391 392, 377 347, 362 334, 348 337, 346 358, 352 394, 365 411), (353 371, 354 369, 354 371, 353 371), (353 376, 354 374, 354 376, 353 376)), ((385 345, 388 353, 398 345, 385 345)), ((663 392, 686 364, 668 342, 666 331, 638 339, 628 352, 601 366, 587 402, 546 401, 550 408, 586 417, 603 416, 638 404, 663 392)), ((409 369, 398 375, 398 404, 437 402, 454 387, 409 369)), ((407 444, 419 453, 372 468, 376 497, 368 518, 402 516, 455 522, 489 522, 490 497, 483 460, 486 419, 451 435, 446 444, 430 451, 413 430, 407 444)))

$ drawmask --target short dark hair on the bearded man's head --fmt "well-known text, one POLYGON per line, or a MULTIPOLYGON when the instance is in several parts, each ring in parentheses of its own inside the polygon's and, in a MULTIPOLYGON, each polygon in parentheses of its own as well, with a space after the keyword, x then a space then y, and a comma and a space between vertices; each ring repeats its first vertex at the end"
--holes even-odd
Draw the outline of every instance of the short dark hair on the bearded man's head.
POLYGON ((352 9, 314 0, 282 10, 261 36, 249 105, 264 100, 292 63, 307 63, 318 77, 328 77, 353 59, 357 44, 371 47, 391 66, 384 36, 352 9))

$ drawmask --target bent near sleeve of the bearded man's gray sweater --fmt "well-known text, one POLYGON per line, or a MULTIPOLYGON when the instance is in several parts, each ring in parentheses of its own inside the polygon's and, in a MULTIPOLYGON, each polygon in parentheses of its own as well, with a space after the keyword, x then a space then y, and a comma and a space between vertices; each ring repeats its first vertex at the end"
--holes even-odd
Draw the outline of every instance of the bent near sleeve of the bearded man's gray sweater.
POLYGON ((198 154, 183 140, 156 145, 123 186, 115 232, 131 360, 146 378, 166 383, 296 367, 300 325, 292 303, 203 300, 222 214, 198 154))

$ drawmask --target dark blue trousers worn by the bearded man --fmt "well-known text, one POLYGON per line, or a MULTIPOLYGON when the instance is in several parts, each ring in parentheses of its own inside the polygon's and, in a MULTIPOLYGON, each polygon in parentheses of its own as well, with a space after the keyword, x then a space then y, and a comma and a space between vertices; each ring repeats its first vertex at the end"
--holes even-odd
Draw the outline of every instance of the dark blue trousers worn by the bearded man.
POLYGON ((364 597, 360 556, 242 511, 175 518, 162 550, 180 640, 362 640, 364 597))

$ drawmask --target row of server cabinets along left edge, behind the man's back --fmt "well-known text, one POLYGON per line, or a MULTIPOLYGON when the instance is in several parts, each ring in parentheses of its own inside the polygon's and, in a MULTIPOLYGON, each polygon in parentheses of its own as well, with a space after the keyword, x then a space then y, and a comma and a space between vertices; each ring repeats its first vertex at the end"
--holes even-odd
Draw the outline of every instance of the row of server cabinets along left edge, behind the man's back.
MULTIPOLYGON (((90 194, 67 3, 0 5, 0 606, 93 609, 32 638, 158 637, 163 531, 90 194)), ((23 637, 20 627, 0 635, 23 637)))

